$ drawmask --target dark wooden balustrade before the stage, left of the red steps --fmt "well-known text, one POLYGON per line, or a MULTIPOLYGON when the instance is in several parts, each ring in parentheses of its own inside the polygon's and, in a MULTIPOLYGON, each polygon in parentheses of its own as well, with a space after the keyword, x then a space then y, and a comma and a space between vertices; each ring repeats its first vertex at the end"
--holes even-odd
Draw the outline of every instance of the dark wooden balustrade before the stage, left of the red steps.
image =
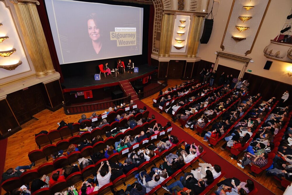
POLYGON ((86 113, 86 112, 95 112, 100 110, 108 109, 109 107, 114 107, 121 103, 129 103, 131 100, 131 95, 127 97, 113 99, 109 101, 91 103, 91 104, 79 104, 75 106, 66 106, 65 102, 62 102, 62 106, 64 108, 64 112, 66 115, 71 114, 79 114, 79 113, 86 113))

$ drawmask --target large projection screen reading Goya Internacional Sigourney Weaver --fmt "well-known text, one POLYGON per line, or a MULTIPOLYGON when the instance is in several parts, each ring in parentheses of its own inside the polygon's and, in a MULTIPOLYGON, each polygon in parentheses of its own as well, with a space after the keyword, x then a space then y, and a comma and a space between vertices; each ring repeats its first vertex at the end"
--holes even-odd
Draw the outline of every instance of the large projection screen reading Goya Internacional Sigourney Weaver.
POLYGON ((60 64, 142 54, 143 8, 45 0, 60 64))

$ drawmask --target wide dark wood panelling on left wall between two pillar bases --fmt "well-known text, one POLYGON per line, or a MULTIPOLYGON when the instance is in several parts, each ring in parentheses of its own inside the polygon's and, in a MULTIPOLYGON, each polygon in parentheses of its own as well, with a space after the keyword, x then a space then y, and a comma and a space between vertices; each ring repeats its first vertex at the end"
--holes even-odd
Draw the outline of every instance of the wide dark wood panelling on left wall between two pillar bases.
POLYGON ((6 99, 20 125, 45 109, 44 94, 41 88, 40 83, 7 95, 6 99))

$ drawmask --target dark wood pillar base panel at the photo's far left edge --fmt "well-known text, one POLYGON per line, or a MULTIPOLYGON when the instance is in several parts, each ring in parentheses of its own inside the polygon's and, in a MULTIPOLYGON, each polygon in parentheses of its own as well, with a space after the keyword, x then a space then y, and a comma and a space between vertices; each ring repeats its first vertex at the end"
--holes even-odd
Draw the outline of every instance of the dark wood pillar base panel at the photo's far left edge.
POLYGON ((0 134, 2 136, 8 133, 8 129, 13 130, 19 127, 19 125, 5 99, 0 101, 0 108, 0 118, 2 121, 0 125, 0 134))

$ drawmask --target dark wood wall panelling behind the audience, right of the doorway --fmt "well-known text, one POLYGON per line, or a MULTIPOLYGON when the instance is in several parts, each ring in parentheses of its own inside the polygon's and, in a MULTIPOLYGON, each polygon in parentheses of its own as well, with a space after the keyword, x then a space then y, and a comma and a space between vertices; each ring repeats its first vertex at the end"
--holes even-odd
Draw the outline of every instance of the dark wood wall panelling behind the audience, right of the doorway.
MULTIPOLYGON (((254 95, 260 92, 263 96, 263 100, 268 100, 271 97, 276 97, 276 99, 280 100, 282 94, 286 90, 288 90, 290 94, 292 92, 292 85, 290 84, 260 77, 251 73, 244 73, 243 79, 247 79, 250 83, 248 86, 250 94, 254 95)), ((291 97, 289 97, 287 101, 291 103, 291 97)))

